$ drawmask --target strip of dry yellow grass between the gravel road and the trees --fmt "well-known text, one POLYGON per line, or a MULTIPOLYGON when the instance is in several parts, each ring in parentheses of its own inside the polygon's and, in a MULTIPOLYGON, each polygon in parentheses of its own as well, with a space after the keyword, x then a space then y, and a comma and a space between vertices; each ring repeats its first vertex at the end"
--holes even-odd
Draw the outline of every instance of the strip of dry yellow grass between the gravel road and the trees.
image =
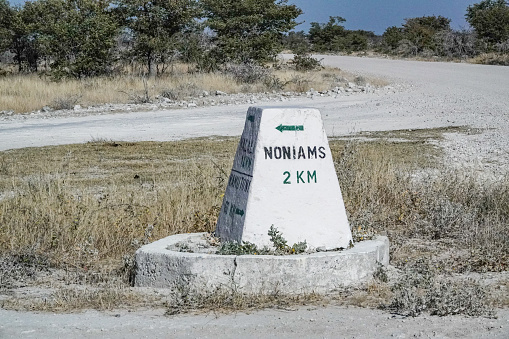
MULTIPOLYGON (((270 79, 261 78, 249 84, 236 81, 227 72, 193 73, 187 65, 175 65, 168 75, 149 80, 125 75, 56 82, 38 75, 7 75, 0 77, 0 111, 24 113, 45 106, 72 109, 76 104, 84 107, 139 104, 162 96, 184 100, 197 98, 204 91, 214 93, 217 90, 230 94, 272 92, 274 89, 296 92, 305 92, 310 88, 327 90, 354 81, 355 78, 352 74, 333 68, 316 72, 296 72, 286 68, 275 72, 269 70, 268 73, 270 79)), ((372 79, 371 83, 386 85, 379 79, 372 79)))

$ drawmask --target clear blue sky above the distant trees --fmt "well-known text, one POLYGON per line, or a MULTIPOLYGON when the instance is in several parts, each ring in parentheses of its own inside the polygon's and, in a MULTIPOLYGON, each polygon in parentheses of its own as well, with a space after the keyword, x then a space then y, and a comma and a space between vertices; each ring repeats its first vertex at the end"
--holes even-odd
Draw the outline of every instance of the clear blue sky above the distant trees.
MULTIPOLYGON (((297 30, 307 31, 311 22, 324 23, 329 16, 346 19, 348 29, 364 29, 382 34, 387 27, 401 26, 405 18, 441 15, 452 20, 454 29, 468 28, 465 12, 469 5, 481 0, 289 0, 304 14, 298 18, 297 30)), ((20 4, 24 0, 10 0, 20 4)))

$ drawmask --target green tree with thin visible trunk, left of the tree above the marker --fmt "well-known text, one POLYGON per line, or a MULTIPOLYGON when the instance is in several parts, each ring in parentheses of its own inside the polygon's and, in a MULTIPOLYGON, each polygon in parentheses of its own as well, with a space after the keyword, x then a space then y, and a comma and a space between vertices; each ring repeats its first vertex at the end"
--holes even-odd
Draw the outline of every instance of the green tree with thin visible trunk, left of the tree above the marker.
POLYGON ((196 0, 117 0, 116 11, 132 34, 131 56, 155 76, 176 48, 174 38, 199 16, 196 0))

